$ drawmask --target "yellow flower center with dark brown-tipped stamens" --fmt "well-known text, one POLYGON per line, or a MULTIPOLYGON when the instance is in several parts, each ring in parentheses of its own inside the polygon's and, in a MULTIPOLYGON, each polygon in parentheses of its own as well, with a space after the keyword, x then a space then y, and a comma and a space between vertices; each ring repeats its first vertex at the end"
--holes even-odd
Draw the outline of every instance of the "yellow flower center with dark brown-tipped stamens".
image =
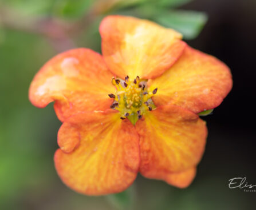
POLYGON ((109 94, 110 98, 115 99, 111 108, 121 112, 121 119, 128 118, 133 124, 145 114, 155 108, 151 97, 156 94, 157 88, 151 91, 147 87, 147 80, 137 76, 130 80, 129 76, 123 79, 112 78, 112 84, 116 86, 116 94, 109 94))

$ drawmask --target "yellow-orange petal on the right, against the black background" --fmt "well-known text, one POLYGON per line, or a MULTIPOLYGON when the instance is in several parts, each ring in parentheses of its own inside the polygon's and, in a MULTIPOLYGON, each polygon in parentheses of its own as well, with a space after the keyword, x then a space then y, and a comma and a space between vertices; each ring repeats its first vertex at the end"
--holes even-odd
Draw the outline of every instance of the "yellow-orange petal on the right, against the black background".
POLYGON ((194 113, 219 106, 232 84, 229 67, 189 46, 174 66, 149 81, 149 85, 158 88, 152 98, 156 106, 171 103, 194 113))

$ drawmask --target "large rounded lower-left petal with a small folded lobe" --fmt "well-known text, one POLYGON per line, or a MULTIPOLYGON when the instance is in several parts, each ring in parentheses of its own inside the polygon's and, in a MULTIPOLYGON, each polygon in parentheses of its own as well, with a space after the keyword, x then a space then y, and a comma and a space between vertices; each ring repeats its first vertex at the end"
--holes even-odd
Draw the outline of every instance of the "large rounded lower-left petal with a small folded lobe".
POLYGON ((73 115, 65 120, 58 137, 61 148, 70 152, 73 147, 70 153, 58 149, 54 161, 61 180, 74 191, 85 195, 117 193, 135 180, 139 136, 128 119, 120 119, 119 112, 73 115), (73 132, 76 134, 70 134, 73 132))

